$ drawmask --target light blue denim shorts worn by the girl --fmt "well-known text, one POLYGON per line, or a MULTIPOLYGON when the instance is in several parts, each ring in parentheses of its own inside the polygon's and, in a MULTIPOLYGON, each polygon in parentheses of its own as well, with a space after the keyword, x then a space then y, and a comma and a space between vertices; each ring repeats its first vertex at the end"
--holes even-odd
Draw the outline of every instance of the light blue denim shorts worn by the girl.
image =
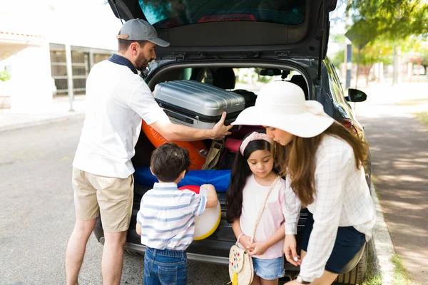
POLYGON ((275 280, 285 274, 284 256, 275 259, 258 259, 253 257, 255 275, 265 280, 275 280))

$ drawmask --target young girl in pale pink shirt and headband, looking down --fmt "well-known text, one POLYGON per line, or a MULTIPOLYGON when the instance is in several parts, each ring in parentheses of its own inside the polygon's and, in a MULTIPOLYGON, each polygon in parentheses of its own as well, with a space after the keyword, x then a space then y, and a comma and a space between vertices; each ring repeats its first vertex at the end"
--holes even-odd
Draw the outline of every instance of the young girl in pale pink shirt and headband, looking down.
MULTIPOLYGON (((264 133, 250 133, 243 140, 231 172, 231 182, 226 192, 227 219, 232 224, 238 243, 253 257, 255 277, 253 284, 278 284, 285 274, 282 244, 287 221, 285 212, 285 181, 275 181, 270 153, 272 140, 264 133), (267 198, 260 223, 254 232, 260 207, 266 199, 272 183, 276 182, 267 198), (253 238, 253 242, 251 239, 253 238)), ((294 199, 294 201, 296 201, 294 199)), ((297 218, 300 204, 292 207, 290 221, 297 218)), ((287 227, 293 227, 293 224, 287 227)))

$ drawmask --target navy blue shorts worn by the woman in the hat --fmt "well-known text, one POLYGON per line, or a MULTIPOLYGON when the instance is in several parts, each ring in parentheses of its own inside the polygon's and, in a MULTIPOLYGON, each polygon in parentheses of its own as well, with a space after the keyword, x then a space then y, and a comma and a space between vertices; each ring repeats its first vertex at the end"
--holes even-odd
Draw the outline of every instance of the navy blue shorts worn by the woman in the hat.
MULTIPOLYGON (((307 244, 309 243, 310 233, 314 225, 314 217, 312 213, 307 212, 305 229, 303 230, 301 249, 307 252, 307 244)), ((365 234, 358 232, 355 227, 339 227, 335 246, 332 254, 325 264, 325 270, 340 274, 342 269, 351 261, 355 254, 360 252, 360 249, 365 245, 365 234)))

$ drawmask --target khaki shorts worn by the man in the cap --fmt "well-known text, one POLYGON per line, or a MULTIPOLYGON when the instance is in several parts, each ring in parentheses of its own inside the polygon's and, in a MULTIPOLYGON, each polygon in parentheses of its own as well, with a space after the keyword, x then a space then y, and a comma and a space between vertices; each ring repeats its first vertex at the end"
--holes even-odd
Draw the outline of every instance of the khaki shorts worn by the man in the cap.
POLYGON ((76 217, 83 221, 101 214, 106 232, 128 230, 133 204, 133 176, 128 178, 93 175, 73 167, 72 185, 76 217))

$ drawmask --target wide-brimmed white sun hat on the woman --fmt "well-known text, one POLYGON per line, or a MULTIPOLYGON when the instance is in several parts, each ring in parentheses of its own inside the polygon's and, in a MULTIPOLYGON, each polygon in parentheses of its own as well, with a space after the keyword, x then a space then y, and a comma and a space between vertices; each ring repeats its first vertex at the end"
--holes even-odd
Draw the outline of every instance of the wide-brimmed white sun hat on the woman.
POLYGON ((321 103, 305 100, 302 88, 288 81, 274 81, 260 89, 255 105, 243 110, 232 125, 264 125, 312 138, 334 121, 321 103))

